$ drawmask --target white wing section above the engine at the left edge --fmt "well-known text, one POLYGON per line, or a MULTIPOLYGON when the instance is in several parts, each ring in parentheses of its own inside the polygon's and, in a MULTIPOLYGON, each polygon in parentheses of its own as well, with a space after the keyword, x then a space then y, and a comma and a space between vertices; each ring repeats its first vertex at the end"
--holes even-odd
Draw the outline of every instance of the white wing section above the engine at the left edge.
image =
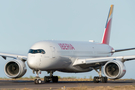
POLYGON ((23 60, 23 61, 27 60, 27 56, 23 56, 23 55, 0 53, 0 56, 2 56, 5 60, 6 60, 7 57, 14 58, 14 59, 20 59, 20 60, 23 60))

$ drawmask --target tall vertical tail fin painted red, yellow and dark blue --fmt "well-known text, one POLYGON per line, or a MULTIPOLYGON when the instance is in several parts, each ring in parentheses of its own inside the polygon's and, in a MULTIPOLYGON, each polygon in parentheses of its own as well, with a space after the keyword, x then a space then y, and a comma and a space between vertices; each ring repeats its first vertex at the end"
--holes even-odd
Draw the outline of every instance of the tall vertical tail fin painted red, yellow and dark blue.
POLYGON ((110 6, 108 18, 106 21, 105 31, 102 39, 103 44, 108 44, 110 41, 110 33, 111 33, 111 21, 112 21, 112 13, 113 13, 113 5, 110 6))

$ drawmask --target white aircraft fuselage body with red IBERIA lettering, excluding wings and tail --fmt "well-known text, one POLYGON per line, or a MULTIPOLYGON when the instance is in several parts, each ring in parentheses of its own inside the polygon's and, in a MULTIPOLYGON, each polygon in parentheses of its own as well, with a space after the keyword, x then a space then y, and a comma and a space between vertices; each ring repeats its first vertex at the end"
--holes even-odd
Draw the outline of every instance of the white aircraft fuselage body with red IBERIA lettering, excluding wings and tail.
POLYGON ((33 70, 87 72, 91 68, 73 66, 77 58, 110 57, 112 48, 106 44, 79 41, 41 41, 31 49, 43 49, 45 54, 28 53, 28 66, 33 70))

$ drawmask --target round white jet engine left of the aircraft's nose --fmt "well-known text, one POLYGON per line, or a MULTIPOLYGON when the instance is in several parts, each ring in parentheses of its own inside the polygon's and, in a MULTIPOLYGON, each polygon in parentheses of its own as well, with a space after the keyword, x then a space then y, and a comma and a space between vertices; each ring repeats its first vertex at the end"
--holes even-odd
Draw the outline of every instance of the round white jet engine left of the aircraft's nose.
POLYGON ((24 61, 11 60, 6 63, 4 71, 10 78, 20 78, 26 73, 27 68, 24 61))

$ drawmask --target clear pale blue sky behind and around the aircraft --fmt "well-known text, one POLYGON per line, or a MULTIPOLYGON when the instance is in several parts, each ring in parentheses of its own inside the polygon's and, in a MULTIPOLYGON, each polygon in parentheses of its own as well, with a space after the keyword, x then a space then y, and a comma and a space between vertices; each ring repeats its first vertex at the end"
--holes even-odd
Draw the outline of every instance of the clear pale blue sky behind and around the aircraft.
MULTIPOLYGON (((135 47, 135 0, 0 0, 0 52, 27 55, 42 40, 101 42, 110 5, 114 5, 110 46, 135 47)), ((135 55, 135 50, 113 56, 135 55)), ((8 59, 12 60, 12 59, 8 59)), ((7 77, 0 57, 0 77, 7 77)), ((125 62, 123 78, 135 79, 135 61, 125 62)), ((27 66, 24 77, 36 76, 27 66)), ((48 75, 42 72, 40 77, 48 75)), ((61 73, 61 77, 89 78, 98 74, 61 73)))

